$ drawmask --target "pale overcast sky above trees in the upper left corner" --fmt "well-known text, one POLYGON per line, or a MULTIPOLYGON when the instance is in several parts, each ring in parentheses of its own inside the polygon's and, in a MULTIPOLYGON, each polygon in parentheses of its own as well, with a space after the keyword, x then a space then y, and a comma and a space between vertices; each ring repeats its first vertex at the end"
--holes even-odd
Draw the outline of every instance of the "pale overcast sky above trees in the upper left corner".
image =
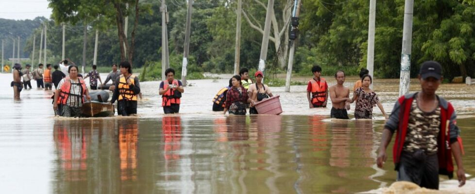
POLYGON ((34 19, 37 16, 50 18, 48 0, 0 0, 0 18, 34 19))

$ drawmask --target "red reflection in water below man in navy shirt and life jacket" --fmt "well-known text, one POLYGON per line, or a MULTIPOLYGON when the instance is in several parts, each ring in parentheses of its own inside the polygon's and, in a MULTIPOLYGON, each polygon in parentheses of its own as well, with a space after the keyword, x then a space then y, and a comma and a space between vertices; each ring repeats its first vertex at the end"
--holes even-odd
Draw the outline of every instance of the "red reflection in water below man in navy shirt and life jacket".
POLYGON ((164 116, 162 118, 163 146, 165 160, 178 160, 180 155, 176 152, 180 150, 181 122, 179 116, 164 116))

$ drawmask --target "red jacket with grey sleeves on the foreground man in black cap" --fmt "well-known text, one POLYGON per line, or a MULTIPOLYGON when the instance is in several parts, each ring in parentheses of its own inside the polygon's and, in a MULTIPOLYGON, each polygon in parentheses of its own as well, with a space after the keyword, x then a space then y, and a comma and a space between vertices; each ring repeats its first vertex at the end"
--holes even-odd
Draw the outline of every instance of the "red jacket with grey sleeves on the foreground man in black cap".
MULTIPOLYGON (((411 117, 412 101, 417 96, 417 93, 407 94, 400 97, 392 109, 389 119, 386 121, 385 129, 389 129, 392 133, 396 132, 396 138, 393 147, 393 161, 395 164, 394 170, 399 170, 401 165, 404 165, 403 150, 408 136, 409 119, 411 117)), ((437 158, 439 174, 447 175, 449 178, 454 176, 454 164, 452 161, 452 150, 449 145, 458 142, 460 148, 461 139, 459 136, 459 129, 456 126, 457 115, 452 104, 447 102, 444 98, 437 96, 439 99, 440 117, 439 133, 437 137, 437 158), (459 140, 460 139, 460 140, 459 140)), ((463 151, 463 150, 462 150, 463 151)), ((424 151, 422 152, 424 153, 424 151)), ((424 153, 425 154, 425 153, 424 153)), ((430 165, 435 163, 429 162, 430 165)), ((425 164, 429 165, 429 164, 425 164)))

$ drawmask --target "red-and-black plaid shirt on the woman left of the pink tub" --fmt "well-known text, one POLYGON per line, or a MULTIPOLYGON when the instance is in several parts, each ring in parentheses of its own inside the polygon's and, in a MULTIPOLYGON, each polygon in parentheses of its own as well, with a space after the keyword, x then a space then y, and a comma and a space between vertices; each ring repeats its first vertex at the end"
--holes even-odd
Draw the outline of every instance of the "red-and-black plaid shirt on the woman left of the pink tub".
POLYGON ((229 89, 225 103, 228 112, 230 114, 245 115, 247 113, 246 102, 248 98, 247 90, 243 86, 229 89))

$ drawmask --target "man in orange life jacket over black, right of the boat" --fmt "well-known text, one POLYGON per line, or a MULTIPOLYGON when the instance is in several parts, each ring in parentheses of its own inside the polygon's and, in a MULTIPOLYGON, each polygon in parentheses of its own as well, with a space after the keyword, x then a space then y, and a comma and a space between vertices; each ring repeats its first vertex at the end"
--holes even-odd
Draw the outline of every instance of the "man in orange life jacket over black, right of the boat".
POLYGON ((129 62, 119 64, 121 75, 116 80, 111 103, 118 100, 118 115, 128 116, 137 113, 137 95, 140 93, 138 77, 132 75, 132 66, 129 62))

